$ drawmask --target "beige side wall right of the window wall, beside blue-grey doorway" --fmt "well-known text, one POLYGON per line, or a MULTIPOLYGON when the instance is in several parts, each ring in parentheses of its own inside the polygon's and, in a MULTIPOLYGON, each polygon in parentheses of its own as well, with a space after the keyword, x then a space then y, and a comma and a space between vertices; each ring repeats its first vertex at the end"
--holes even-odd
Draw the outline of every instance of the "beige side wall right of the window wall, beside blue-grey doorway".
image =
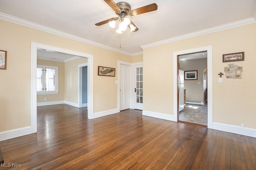
POLYGON ((65 101, 78 104, 78 65, 87 62, 81 57, 65 63, 65 101))

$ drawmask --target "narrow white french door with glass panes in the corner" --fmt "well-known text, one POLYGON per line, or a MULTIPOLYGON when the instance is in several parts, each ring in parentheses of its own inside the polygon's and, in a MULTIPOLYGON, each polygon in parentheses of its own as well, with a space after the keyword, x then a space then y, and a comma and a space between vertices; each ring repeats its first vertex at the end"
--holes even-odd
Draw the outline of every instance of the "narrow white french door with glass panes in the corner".
POLYGON ((136 65, 135 88, 134 88, 134 109, 143 110, 143 65, 136 65))

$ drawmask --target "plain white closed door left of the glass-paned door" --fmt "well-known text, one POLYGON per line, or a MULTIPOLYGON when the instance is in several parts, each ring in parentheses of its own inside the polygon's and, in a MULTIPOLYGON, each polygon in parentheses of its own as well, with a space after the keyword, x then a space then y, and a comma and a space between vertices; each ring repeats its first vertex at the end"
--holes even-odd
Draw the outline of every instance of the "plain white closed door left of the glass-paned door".
POLYGON ((120 64, 120 110, 130 109, 130 66, 120 64))

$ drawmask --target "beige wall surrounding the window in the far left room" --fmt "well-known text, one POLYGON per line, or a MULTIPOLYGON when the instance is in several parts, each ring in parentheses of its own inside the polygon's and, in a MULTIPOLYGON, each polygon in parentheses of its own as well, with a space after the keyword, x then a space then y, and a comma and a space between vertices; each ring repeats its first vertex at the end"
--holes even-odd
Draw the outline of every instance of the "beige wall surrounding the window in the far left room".
POLYGON ((56 102, 64 101, 64 63, 37 59, 37 64, 58 67, 58 94, 40 94, 37 95, 37 102, 56 102), (47 101, 44 100, 47 98, 47 101))

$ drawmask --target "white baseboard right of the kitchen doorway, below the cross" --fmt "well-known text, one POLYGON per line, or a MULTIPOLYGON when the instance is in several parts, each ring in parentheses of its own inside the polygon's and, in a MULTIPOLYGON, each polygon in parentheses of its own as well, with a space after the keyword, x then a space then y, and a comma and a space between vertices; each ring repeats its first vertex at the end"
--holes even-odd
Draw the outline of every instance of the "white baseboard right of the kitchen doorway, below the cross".
POLYGON ((256 129, 213 122, 212 129, 256 138, 256 129))

